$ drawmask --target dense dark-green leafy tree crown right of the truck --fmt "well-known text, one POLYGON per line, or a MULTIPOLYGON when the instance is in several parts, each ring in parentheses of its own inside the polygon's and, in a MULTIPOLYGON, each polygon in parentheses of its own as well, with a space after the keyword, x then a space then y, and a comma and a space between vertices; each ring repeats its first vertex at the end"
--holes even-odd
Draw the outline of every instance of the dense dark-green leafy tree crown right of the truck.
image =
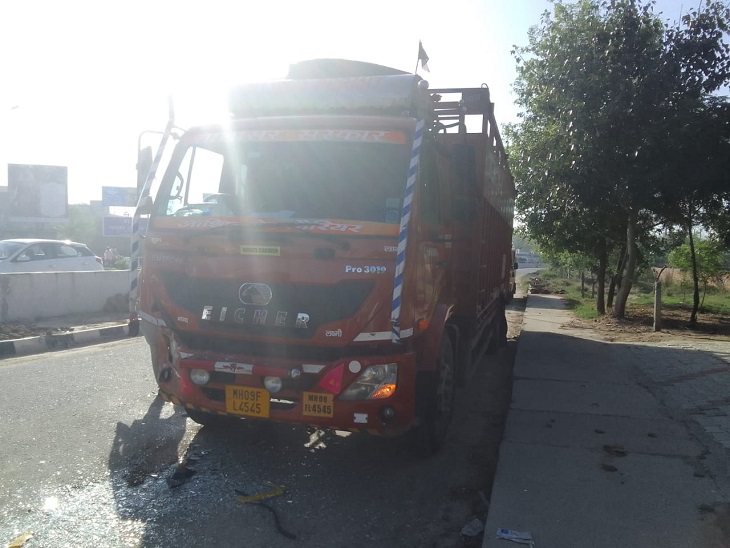
POLYGON ((557 262, 626 249, 622 310, 636 265, 657 253, 657 224, 728 203, 729 109, 707 94, 728 82, 729 14, 707 1, 667 27, 651 1, 558 2, 513 52, 518 218, 557 262))

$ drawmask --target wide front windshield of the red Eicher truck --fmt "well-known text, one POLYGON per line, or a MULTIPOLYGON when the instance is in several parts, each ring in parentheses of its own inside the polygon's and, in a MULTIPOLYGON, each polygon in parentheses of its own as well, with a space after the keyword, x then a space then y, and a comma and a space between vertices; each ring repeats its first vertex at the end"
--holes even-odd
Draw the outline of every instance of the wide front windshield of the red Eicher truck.
POLYGON ((373 133, 222 132, 183 141, 160 186, 156 215, 398 223, 410 146, 400 132, 377 132, 386 142, 367 137, 373 133))

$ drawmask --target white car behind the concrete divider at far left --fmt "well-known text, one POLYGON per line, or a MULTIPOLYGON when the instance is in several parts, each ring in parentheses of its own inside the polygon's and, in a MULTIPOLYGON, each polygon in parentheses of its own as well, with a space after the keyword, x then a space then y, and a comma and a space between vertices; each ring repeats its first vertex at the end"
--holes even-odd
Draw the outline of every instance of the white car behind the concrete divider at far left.
POLYGON ((0 273, 104 270, 101 257, 68 240, 0 240, 0 273))

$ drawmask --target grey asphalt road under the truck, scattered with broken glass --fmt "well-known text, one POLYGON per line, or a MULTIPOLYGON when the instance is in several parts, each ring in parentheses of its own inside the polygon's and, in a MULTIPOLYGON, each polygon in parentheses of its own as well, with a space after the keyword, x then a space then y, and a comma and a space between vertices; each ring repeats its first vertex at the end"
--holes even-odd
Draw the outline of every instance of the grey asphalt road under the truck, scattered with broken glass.
POLYGON ((464 387, 430 459, 405 439, 201 428, 155 396, 141 338, 3 360, 0 544, 32 531, 26 548, 463 546, 486 512, 513 356, 514 343, 464 387), (266 507, 236 498, 278 487, 266 507))

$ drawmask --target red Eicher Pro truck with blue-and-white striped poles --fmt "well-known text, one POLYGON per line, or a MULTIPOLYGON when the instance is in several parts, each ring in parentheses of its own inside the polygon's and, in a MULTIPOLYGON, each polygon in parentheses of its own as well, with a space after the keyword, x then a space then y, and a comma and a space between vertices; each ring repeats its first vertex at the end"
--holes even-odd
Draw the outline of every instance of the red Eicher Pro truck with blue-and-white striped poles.
POLYGON ((201 424, 436 450, 457 381, 506 341, 515 189, 488 88, 314 60, 230 111, 179 137, 138 206, 160 394, 201 424))

